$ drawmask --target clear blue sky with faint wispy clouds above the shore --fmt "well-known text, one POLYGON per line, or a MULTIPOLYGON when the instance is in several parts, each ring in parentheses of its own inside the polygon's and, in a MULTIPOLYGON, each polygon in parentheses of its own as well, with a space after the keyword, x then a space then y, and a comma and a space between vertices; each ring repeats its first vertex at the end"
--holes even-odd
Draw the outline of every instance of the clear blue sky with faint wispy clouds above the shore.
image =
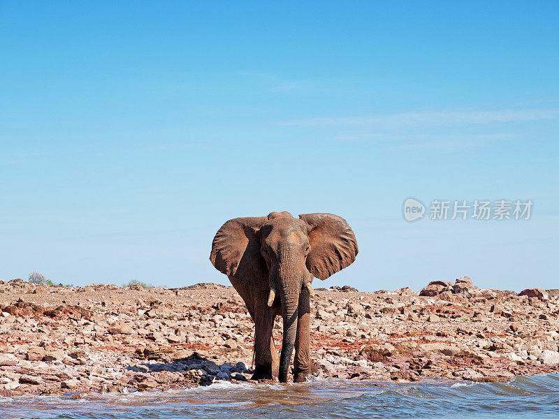
MULTIPOLYGON (((559 3, 2 2, 0 279, 228 284, 217 229, 344 216, 363 291, 559 288, 559 3), (407 223, 408 197, 534 202, 407 223)), ((318 281, 318 280, 317 280, 318 281)))

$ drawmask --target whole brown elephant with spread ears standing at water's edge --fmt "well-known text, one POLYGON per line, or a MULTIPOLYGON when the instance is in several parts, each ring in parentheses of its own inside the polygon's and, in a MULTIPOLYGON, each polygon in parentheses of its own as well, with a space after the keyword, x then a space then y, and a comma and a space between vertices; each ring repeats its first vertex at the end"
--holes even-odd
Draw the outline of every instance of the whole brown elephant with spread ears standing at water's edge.
POLYGON ((212 242, 210 261, 226 274, 254 321, 252 379, 286 383, 291 355, 293 382, 312 373, 310 298, 314 277, 326 279, 354 262, 357 240, 347 221, 327 213, 289 212, 231 219, 212 242), (283 318, 279 359, 272 337, 275 316, 283 318))

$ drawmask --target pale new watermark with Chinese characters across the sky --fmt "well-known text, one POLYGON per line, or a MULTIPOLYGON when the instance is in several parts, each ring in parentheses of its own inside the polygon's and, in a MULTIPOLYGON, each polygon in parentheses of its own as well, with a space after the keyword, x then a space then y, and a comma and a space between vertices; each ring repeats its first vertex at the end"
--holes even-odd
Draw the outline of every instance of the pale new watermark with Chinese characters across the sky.
MULTIPOLYGON (((474 219, 478 221, 529 220, 534 203, 528 200, 432 200, 429 219, 433 221, 474 219)), ((426 207, 420 200, 407 198, 404 201, 404 219, 416 221, 426 214, 426 207)))

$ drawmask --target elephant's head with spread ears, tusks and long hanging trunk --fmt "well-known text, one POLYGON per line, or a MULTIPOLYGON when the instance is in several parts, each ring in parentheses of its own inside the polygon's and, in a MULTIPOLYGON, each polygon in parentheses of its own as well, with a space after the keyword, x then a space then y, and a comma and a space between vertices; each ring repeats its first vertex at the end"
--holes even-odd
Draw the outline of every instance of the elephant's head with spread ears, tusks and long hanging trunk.
POLYGON ((354 232, 333 214, 303 214, 296 219, 289 212, 272 212, 232 219, 215 235, 210 260, 217 270, 248 286, 269 289, 269 306, 281 303, 279 381, 287 379, 299 298, 312 295, 313 277, 330 277, 353 263, 357 253, 354 232), (301 293, 303 288, 309 293, 301 293))

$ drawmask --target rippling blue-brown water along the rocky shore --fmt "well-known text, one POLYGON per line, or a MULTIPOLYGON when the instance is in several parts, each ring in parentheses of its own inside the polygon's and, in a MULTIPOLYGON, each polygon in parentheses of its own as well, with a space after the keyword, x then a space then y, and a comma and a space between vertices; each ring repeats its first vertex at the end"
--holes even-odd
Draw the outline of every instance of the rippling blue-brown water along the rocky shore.
POLYGON ((292 385, 219 382, 166 392, 0 398, 0 418, 559 418, 559 374, 509 383, 373 383, 339 379, 292 385))

